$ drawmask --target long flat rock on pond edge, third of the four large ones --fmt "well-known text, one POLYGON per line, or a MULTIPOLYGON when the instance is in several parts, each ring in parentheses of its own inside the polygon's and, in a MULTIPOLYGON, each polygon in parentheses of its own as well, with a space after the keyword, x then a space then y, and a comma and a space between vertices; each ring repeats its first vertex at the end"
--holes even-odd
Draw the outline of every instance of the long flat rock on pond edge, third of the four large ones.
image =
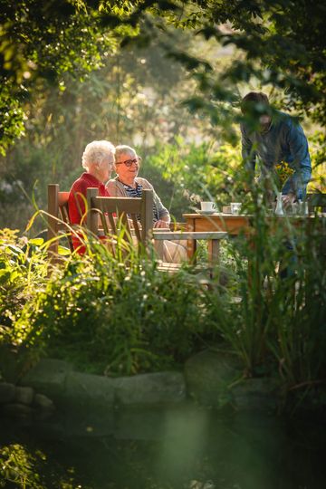
POLYGON ((117 401, 124 405, 178 403, 186 398, 180 372, 158 372, 115 379, 117 401))

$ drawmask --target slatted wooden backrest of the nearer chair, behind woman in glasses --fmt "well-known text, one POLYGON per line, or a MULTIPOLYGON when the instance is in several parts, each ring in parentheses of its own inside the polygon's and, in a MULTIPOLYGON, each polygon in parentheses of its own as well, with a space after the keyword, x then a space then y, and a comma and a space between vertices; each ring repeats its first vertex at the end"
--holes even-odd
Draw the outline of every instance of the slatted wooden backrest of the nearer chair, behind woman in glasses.
POLYGON ((117 235, 121 223, 128 239, 132 235, 130 222, 138 244, 147 246, 153 229, 153 191, 144 189, 139 197, 99 197, 98 188, 87 189, 87 227, 99 235, 99 216, 104 235, 117 235))

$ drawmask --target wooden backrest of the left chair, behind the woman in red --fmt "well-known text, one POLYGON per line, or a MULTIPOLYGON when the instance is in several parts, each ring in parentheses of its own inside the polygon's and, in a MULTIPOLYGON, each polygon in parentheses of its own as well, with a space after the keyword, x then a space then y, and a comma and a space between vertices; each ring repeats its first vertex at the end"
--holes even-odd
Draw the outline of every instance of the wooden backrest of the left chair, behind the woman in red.
MULTIPOLYGON (((48 232, 47 239, 51 240, 60 232, 66 233, 70 250, 73 251, 72 237, 68 226, 71 225, 68 211, 69 192, 60 192, 58 184, 48 185, 48 232)), ((49 254, 58 254, 58 240, 49 245, 49 254)))

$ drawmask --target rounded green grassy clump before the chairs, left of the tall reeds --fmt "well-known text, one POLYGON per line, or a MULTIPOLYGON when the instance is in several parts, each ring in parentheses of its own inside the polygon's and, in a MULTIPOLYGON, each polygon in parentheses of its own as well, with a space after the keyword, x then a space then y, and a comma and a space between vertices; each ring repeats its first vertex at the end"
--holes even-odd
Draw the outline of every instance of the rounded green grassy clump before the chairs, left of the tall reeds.
POLYGON ((100 247, 90 259, 72 258, 53 273, 25 304, 13 336, 23 340, 24 349, 110 374, 186 360, 205 331, 197 281, 187 271, 158 272, 136 257, 126 267, 100 247))

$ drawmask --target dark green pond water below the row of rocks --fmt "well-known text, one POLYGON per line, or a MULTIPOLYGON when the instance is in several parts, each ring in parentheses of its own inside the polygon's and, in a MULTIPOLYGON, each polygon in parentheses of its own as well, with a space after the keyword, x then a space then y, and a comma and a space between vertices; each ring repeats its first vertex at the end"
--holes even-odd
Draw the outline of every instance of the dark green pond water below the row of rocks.
POLYGON ((321 489, 325 427, 193 406, 103 409, 34 423, 2 419, 0 445, 33 455, 44 488, 321 489))

